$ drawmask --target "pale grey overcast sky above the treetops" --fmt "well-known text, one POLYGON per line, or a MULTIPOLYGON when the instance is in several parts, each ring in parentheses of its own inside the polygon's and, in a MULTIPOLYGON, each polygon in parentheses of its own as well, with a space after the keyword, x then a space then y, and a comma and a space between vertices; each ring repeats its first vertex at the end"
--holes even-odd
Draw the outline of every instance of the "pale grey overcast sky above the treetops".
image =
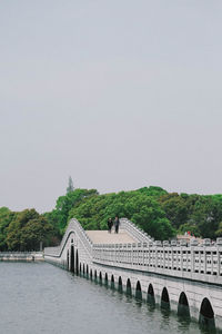
POLYGON ((222 1, 1 0, 0 206, 222 193, 222 1))

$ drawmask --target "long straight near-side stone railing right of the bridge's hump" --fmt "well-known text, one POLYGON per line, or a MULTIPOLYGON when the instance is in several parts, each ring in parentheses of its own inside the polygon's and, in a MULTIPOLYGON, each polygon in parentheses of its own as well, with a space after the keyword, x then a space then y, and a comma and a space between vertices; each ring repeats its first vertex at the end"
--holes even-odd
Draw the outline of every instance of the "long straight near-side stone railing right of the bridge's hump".
MULTIPOLYGON (((168 275, 193 277, 198 274, 202 281, 222 283, 222 245, 173 246, 115 244, 93 245, 93 261, 97 263, 120 266, 129 269, 168 273, 168 275)), ((194 278, 193 278, 194 279, 194 278)))

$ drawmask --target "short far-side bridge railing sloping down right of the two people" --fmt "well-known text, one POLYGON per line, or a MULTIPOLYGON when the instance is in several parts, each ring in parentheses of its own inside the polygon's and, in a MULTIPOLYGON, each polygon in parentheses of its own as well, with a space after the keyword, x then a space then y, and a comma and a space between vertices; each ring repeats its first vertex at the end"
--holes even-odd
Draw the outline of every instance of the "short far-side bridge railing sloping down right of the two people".
POLYGON ((149 236, 144 230, 135 226, 128 218, 120 219, 120 228, 127 230, 135 240, 140 243, 149 243, 152 240, 151 236, 149 236))

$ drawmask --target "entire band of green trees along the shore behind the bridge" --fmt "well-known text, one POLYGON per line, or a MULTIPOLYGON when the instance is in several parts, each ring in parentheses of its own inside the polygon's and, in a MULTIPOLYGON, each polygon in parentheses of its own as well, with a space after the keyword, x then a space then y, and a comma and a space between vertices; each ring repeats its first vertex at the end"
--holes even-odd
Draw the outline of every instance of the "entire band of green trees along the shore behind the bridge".
POLYGON ((127 217, 155 239, 190 232, 194 236, 222 236, 222 195, 168 193, 160 187, 99 195, 95 189, 73 189, 60 196, 52 212, 11 212, 0 208, 0 250, 31 250, 60 242, 70 218, 85 229, 107 229, 108 217, 127 217))

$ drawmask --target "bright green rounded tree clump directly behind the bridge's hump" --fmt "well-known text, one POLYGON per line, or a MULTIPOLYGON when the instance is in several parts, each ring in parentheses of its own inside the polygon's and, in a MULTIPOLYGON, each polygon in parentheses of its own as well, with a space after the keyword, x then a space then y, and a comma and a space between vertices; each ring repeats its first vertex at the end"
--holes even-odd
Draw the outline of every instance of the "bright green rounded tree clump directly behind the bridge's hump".
POLYGON ((164 239, 175 234, 160 203, 143 190, 84 198, 70 210, 69 218, 75 217, 85 229, 107 229, 108 217, 115 215, 128 217, 154 238, 164 239))

